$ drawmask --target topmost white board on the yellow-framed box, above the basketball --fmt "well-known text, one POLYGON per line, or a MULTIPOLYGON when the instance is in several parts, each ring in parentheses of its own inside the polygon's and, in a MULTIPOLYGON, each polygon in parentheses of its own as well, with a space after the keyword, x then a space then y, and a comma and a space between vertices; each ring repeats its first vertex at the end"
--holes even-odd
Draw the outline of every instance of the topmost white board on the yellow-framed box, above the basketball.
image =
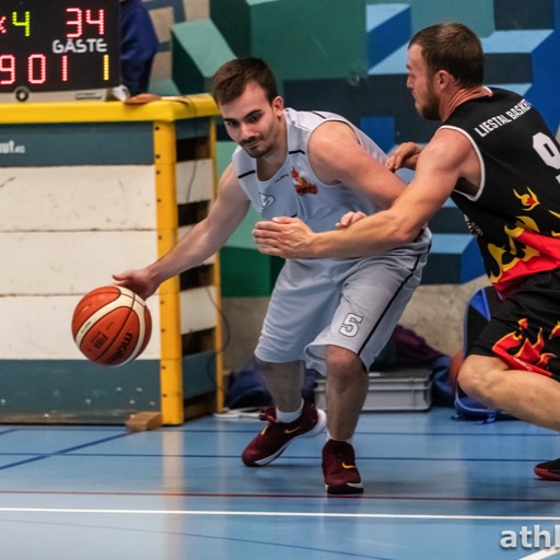
POLYGON ((0 168, 0 231, 156 229, 152 165, 0 168))

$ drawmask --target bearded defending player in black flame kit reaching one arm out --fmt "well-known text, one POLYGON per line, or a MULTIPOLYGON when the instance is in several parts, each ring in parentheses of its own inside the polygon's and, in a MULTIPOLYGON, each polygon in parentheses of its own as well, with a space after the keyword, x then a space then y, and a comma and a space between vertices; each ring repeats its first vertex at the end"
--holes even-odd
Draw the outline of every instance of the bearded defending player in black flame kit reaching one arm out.
MULTIPOLYGON (((413 240, 451 197, 502 298, 458 383, 489 407, 560 431, 560 145, 529 102, 483 85, 481 44, 465 25, 418 32, 407 69, 417 110, 442 125, 423 149, 407 142, 387 160, 416 170, 392 208, 347 214, 348 226, 317 234, 277 218, 259 222, 255 240, 288 258, 372 255, 413 240)), ((560 480, 560 459, 535 472, 560 480)))

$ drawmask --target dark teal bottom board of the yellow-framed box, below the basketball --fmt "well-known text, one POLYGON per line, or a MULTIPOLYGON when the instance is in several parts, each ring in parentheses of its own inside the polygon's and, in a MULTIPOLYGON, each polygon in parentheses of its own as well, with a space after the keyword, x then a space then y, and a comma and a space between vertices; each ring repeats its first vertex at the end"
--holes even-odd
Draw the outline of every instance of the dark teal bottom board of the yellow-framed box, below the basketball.
POLYGON ((0 360, 0 422, 117 423, 161 410, 160 361, 0 360))

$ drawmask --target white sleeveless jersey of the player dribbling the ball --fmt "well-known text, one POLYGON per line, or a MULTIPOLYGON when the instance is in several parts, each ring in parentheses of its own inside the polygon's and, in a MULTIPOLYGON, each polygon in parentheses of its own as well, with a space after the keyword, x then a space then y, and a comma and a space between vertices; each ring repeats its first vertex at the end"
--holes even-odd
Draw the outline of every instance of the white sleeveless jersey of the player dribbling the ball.
MULTIPOLYGON (((327 185, 313 172, 307 156, 312 132, 326 121, 347 124, 354 131, 360 144, 373 158, 385 162, 381 148, 361 130, 339 115, 324 112, 296 112, 284 109, 288 155, 283 165, 268 180, 259 180, 257 163, 241 147, 232 158, 237 180, 255 210, 266 220, 287 215, 300 218, 314 232, 330 231, 342 214, 376 211, 372 200, 341 183, 327 185)), ((336 153, 332 154, 336 158, 336 153)), ((353 259, 352 259, 353 260, 353 259)))

